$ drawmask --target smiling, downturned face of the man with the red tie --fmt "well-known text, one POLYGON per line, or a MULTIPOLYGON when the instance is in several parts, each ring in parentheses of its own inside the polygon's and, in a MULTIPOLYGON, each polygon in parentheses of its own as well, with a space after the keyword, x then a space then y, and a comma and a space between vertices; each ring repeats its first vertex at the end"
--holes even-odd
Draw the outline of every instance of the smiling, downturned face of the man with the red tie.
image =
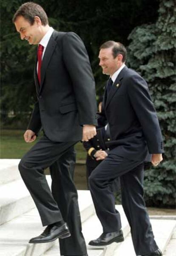
POLYGON ((40 43, 42 39, 40 35, 40 24, 35 20, 31 25, 23 16, 17 17, 14 22, 17 32, 20 33, 21 40, 26 39, 30 45, 40 43))

